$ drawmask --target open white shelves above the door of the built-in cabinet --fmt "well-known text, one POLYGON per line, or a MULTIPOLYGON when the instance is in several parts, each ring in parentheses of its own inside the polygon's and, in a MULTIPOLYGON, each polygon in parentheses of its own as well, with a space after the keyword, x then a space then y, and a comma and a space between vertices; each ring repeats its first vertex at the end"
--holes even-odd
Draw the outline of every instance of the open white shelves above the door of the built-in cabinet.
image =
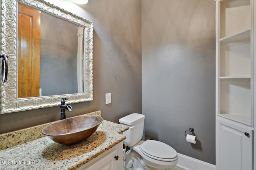
POLYGON ((218 7, 218 115, 252 125, 250 0, 222 0, 218 7))

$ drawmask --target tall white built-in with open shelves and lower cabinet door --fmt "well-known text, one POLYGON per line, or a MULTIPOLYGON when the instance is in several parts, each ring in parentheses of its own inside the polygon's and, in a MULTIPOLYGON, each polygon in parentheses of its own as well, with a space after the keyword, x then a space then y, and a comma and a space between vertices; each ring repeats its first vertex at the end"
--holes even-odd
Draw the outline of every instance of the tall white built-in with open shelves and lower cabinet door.
POLYGON ((216 0, 216 170, 254 170, 255 0, 216 0))

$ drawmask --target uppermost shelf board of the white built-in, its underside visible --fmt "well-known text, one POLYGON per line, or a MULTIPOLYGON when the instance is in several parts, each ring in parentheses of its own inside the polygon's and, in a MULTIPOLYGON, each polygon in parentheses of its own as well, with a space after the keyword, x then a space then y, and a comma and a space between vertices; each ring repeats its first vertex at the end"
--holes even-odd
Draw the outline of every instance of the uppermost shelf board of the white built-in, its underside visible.
POLYGON ((246 29, 246 30, 238 32, 236 34, 229 35, 227 37, 221 38, 220 43, 241 41, 241 40, 244 40, 244 39, 250 39, 250 37, 251 37, 251 29, 246 29))

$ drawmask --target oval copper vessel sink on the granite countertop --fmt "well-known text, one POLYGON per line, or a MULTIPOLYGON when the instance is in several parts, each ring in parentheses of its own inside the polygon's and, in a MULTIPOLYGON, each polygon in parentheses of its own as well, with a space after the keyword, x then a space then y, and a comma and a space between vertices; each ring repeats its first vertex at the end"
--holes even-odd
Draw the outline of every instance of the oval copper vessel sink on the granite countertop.
POLYGON ((101 116, 80 115, 47 125, 42 133, 56 143, 72 145, 90 137, 102 121, 101 116))

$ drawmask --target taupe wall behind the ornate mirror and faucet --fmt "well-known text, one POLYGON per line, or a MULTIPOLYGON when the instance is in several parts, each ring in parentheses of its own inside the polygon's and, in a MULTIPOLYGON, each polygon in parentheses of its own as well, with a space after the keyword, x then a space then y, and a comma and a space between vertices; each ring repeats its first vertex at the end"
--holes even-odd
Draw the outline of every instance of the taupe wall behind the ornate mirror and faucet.
MULTIPOLYGON (((72 104, 66 117, 101 110, 104 119, 118 123, 129 113, 141 113, 141 1, 90 0, 77 6, 63 0, 58 6, 94 22, 93 101, 72 104), (112 104, 105 104, 106 93, 112 94, 112 104)), ((58 119, 58 106, 4 114, 0 133, 58 119)))

